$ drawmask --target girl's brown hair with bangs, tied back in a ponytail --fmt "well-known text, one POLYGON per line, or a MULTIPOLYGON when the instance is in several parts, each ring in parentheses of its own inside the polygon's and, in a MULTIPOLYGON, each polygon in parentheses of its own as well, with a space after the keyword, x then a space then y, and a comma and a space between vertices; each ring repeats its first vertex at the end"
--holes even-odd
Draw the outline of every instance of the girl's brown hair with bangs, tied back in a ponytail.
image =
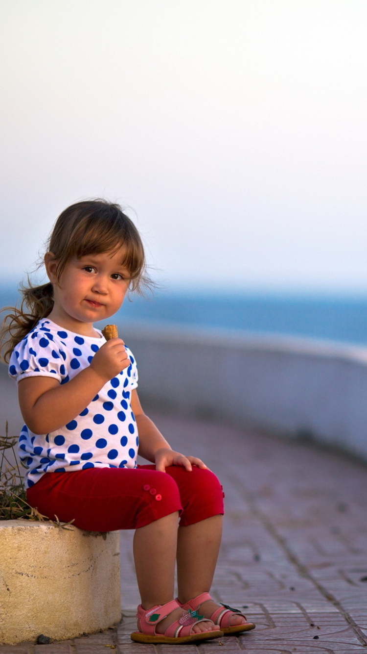
MULTIPOLYGON (((129 270, 129 290, 143 294, 144 287, 154 284, 146 272, 146 259, 142 240, 134 223, 123 213, 120 205, 104 199, 84 200, 67 207, 56 220, 47 243, 47 250, 57 261, 59 280, 67 262, 74 256, 114 252, 124 246, 121 264, 129 270)), ((46 318, 54 306, 54 290, 50 282, 40 286, 22 286, 20 308, 10 309, 3 321, 1 332, 2 359, 8 362, 14 347, 33 329, 39 320, 46 318), (8 336, 8 338, 6 338, 8 336)))

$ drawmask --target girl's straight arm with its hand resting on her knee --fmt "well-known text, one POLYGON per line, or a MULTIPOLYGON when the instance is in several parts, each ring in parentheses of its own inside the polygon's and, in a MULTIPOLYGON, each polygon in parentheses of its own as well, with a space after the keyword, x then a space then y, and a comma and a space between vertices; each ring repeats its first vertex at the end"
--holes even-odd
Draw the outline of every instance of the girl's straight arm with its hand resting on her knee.
POLYGON ((136 425, 138 426, 138 454, 155 463, 156 470, 165 472, 167 466, 183 466, 186 470, 192 470, 192 466, 207 467, 196 456, 185 456, 172 450, 154 422, 144 413, 135 389, 131 393, 131 409, 133 409, 136 425))

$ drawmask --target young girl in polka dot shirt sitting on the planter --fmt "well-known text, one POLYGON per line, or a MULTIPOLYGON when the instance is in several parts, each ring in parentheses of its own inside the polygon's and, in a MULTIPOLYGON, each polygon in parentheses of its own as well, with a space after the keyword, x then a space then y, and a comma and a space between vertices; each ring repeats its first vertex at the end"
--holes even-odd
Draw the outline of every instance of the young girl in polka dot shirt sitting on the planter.
POLYGON ((78 202, 57 219, 44 264, 50 282, 24 290, 4 328, 29 504, 80 529, 136 530, 133 640, 176 644, 254 628, 209 594, 223 515, 217 477, 170 448, 140 405, 133 354, 93 327, 149 281, 133 222, 116 204, 78 202), (137 454, 152 464, 138 466, 137 454))

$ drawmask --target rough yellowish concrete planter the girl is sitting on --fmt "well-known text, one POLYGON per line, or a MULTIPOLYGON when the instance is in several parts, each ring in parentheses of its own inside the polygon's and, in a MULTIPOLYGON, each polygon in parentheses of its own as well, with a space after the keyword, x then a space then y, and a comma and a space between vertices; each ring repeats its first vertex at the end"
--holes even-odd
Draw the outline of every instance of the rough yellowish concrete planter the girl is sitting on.
POLYGON ((118 532, 0 521, 0 644, 75 638, 120 618, 118 532))

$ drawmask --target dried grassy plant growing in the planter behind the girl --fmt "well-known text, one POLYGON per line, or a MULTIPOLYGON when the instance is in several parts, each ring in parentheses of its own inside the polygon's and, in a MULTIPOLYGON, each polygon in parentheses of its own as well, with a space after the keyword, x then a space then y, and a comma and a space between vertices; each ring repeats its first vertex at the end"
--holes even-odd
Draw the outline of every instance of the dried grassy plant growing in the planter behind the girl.
POLYGON ((5 423, 5 436, 0 436, 0 520, 40 520, 48 521, 52 525, 67 529, 70 523, 61 523, 49 520, 37 509, 29 506, 25 494, 23 475, 20 468, 25 468, 22 462, 18 463, 15 445, 17 436, 8 436, 8 421, 5 423), (12 456, 10 455, 12 453, 12 456), (12 458, 14 463, 10 460, 12 458))

